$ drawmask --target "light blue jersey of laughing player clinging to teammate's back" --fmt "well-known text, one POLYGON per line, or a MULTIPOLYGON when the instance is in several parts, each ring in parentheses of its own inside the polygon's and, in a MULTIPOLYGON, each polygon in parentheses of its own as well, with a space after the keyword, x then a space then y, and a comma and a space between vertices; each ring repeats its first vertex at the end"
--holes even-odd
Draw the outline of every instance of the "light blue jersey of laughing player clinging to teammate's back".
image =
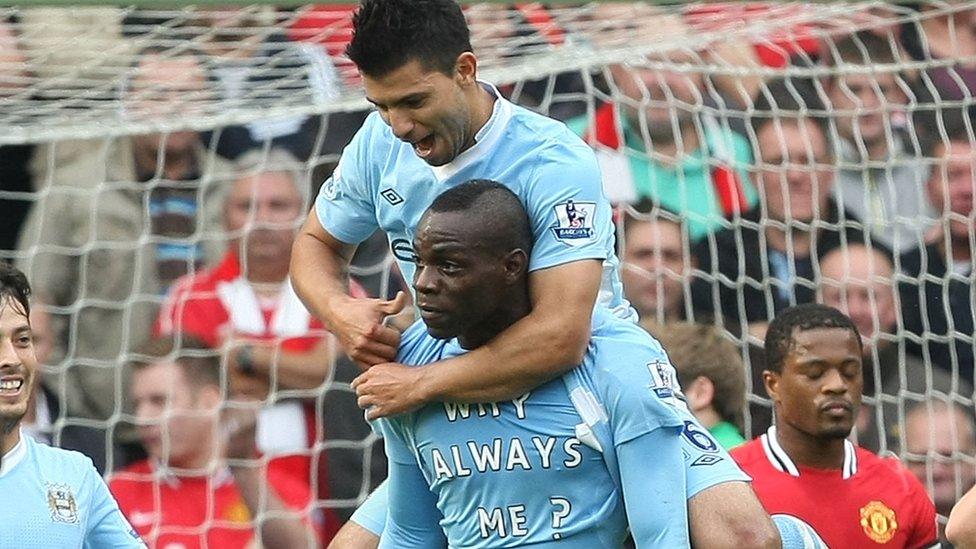
POLYGON ((444 191, 470 179, 493 179, 522 200, 532 223, 529 270, 582 259, 603 260, 598 304, 636 319, 623 297, 610 203, 593 151, 563 123, 506 101, 498 90, 475 144, 432 167, 372 113, 343 150, 316 199, 322 227, 358 244, 382 229, 405 280, 413 280, 413 238, 420 218, 444 191))

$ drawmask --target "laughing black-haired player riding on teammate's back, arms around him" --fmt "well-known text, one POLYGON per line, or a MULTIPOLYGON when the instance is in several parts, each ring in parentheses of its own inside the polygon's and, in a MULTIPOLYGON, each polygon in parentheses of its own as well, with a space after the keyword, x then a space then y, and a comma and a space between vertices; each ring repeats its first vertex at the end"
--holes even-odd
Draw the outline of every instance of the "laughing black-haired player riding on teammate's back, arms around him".
MULTIPOLYGON (((589 343, 594 304, 635 316, 622 298, 611 209, 593 151, 563 124, 477 80, 478 60, 453 0, 365 0, 353 23, 348 54, 378 112, 323 185, 295 240, 291 272, 309 310, 371 366, 358 380, 361 404, 376 418, 428 402, 501 401, 569 371, 589 343), (503 181, 529 214, 529 314, 442 363, 389 363, 400 334, 382 322, 404 300, 351 298, 343 270, 356 244, 381 228, 411 280, 421 214, 472 178, 503 181)), ((761 509, 732 503, 753 497, 744 482, 702 491, 690 502, 693 541, 735 547, 757 534, 774 539, 761 509)))

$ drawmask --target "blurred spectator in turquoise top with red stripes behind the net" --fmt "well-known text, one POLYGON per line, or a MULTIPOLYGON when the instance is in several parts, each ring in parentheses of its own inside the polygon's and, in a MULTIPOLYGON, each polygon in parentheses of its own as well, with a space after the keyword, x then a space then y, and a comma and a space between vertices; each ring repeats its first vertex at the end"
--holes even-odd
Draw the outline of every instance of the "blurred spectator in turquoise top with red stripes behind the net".
MULTIPOLYGON (((687 33, 669 15, 659 14, 655 24, 671 38, 687 33)), ((748 143, 703 113, 703 70, 700 57, 684 50, 611 65, 610 87, 620 103, 568 122, 596 149, 611 202, 650 198, 681 214, 693 241, 757 201, 746 172, 748 143)))

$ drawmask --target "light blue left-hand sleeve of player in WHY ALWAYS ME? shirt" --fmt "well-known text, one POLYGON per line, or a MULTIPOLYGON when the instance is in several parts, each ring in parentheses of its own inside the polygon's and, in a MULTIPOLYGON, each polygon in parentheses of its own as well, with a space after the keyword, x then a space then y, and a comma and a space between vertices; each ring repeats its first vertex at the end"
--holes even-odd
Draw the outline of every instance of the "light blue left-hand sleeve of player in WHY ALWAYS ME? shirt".
POLYGON ((446 547, 447 538, 440 526, 437 497, 430 491, 398 421, 383 422, 383 439, 389 463, 389 502, 380 548, 446 547))

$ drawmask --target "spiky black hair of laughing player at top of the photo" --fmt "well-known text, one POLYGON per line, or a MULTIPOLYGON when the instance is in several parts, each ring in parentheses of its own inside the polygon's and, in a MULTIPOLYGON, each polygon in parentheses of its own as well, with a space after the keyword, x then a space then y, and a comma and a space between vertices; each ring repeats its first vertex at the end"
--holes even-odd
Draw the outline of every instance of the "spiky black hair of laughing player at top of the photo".
POLYGON ((373 77, 415 60, 449 75, 458 56, 472 51, 471 32, 454 0, 363 0, 352 24, 346 55, 373 77))

